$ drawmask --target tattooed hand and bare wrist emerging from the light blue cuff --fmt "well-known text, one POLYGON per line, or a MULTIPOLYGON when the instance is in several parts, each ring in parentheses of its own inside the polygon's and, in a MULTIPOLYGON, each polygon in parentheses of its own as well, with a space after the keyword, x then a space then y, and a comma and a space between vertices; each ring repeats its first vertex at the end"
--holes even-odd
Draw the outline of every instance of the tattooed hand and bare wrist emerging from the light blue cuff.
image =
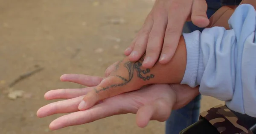
POLYGON ((128 57, 117 62, 115 68, 106 73, 101 83, 84 96, 79 105, 85 110, 99 100, 130 92, 148 84, 175 84, 182 81, 186 69, 186 45, 181 36, 176 53, 168 64, 157 62, 154 67, 142 67, 144 58, 131 62, 128 57))

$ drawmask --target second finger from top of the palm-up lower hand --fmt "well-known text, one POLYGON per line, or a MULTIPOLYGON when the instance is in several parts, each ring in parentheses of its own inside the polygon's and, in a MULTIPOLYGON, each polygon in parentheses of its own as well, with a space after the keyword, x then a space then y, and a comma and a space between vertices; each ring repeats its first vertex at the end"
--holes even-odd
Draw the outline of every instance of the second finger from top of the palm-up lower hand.
POLYGON ((46 100, 53 100, 53 99, 71 99, 76 98, 81 95, 86 95, 90 92, 93 87, 87 87, 83 89, 56 89, 48 91, 44 94, 44 98, 46 100))

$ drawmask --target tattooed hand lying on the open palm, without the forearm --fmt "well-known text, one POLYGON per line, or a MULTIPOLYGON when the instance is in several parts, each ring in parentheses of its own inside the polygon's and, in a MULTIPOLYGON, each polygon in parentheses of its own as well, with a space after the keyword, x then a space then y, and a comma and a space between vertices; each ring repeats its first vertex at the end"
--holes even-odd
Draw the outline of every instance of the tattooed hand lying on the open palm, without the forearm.
POLYGON ((147 85, 146 81, 154 78, 155 75, 149 69, 141 67, 142 61, 143 58, 137 62, 123 59, 112 64, 105 71, 105 78, 84 96, 78 108, 85 110, 94 106, 99 100, 134 91, 147 85))

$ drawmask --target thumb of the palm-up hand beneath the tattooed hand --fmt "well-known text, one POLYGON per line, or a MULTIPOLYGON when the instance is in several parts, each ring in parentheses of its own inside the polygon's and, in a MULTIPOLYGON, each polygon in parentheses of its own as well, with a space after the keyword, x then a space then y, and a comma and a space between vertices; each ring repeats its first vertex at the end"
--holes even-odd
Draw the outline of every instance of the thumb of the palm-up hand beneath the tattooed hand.
POLYGON ((144 128, 150 120, 166 121, 171 114, 175 101, 168 102, 164 98, 154 100, 153 103, 142 106, 136 114, 136 123, 144 128))

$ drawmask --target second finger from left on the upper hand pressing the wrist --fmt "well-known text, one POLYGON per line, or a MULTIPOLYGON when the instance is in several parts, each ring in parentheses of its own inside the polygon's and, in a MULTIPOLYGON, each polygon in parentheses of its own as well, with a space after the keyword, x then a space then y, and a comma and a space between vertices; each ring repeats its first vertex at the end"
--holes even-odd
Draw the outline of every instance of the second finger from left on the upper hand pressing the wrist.
POLYGON ((129 55, 130 61, 139 60, 145 53, 146 46, 148 43, 148 35, 151 31, 152 26, 153 26, 153 20, 151 19, 151 16, 148 15, 147 19, 145 20, 143 28, 138 33, 138 37, 135 42, 134 49, 129 55))

